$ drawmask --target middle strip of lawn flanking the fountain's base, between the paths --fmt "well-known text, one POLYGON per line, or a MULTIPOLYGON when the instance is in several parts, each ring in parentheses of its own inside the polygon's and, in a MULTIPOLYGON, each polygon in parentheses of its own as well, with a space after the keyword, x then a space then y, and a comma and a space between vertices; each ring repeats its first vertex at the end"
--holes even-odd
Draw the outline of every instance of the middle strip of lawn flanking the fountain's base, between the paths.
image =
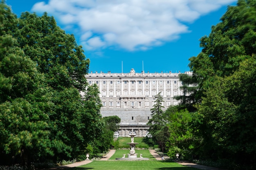
MULTIPOLYGON (((128 157, 127 154, 130 152, 130 150, 116 150, 115 154, 110 157, 109 160, 115 160, 116 158, 123 157, 123 154, 126 154, 125 157, 128 157)), ((137 157, 139 157, 140 154, 142 154, 142 157, 149 158, 151 160, 155 160, 153 155, 150 154, 149 150, 135 150, 135 152, 138 154, 137 157)))

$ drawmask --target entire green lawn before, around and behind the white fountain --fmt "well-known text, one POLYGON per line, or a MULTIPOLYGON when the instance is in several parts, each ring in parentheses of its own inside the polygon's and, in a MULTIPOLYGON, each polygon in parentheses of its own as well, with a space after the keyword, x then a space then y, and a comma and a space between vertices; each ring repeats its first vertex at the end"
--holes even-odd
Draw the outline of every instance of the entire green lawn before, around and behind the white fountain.
MULTIPOLYGON (((135 137, 134 142, 139 143, 136 147, 140 145, 142 147, 147 146, 142 142, 143 137, 135 137)), ((129 147, 130 137, 119 137, 119 146, 129 147)), ((187 166, 182 166, 176 162, 172 161, 157 161, 153 155, 150 154, 149 150, 135 150, 139 157, 140 154, 144 158, 149 158, 148 161, 121 161, 115 160, 116 158, 123 157, 123 154, 129 153, 127 150, 116 150, 115 154, 110 157, 108 161, 92 161, 83 166, 72 168, 72 170, 198 170, 196 168, 191 168, 187 166)))

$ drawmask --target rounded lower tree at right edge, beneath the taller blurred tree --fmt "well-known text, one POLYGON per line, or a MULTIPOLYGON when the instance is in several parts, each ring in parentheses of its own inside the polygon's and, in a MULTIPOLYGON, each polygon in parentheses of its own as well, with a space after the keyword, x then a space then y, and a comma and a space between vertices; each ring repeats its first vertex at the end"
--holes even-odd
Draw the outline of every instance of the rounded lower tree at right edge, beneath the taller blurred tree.
POLYGON ((256 58, 251 57, 231 76, 216 77, 200 105, 204 151, 213 158, 242 164, 253 164, 256 159, 251 133, 256 129, 255 66, 256 58))

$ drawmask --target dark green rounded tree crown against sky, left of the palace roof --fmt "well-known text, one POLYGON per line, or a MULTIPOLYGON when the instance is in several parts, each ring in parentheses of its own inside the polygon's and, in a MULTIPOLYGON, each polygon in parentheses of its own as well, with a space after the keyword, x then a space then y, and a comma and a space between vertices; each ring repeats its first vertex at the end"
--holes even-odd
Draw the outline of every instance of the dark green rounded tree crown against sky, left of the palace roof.
POLYGON ((74 35, 66 34, 47 13, 22 13, 15 37, 20 48, 45 73, 47 84, 56 90, 75 87, 85 91, 89 59, 85 59, 82 46, 74 35))

